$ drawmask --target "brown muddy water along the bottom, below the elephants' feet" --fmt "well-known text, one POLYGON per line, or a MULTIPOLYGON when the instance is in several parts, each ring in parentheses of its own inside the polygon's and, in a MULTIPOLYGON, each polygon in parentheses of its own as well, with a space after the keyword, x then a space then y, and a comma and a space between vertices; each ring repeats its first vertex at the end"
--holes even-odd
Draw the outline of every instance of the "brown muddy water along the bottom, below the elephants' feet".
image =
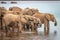
POLYGON ((40 33, 3 33, 0 32, 0 40, 56 40, 57 34, 50 33, 49 35, 44 35, 43 32, 40 33))

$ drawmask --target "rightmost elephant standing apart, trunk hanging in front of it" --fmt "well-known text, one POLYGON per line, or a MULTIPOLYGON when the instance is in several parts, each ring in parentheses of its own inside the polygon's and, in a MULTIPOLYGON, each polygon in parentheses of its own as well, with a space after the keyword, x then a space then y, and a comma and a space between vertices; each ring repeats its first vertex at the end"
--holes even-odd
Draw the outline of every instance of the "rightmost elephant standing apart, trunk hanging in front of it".
POLYGON ((57 21, 56 21, 56 18, 53 14, 35 13, 33 16, 41 19, 42 24, 44 24, 44 33, 45 34, 49 34, 49 21, 54 22, 54 26, 57 26, 57 21))

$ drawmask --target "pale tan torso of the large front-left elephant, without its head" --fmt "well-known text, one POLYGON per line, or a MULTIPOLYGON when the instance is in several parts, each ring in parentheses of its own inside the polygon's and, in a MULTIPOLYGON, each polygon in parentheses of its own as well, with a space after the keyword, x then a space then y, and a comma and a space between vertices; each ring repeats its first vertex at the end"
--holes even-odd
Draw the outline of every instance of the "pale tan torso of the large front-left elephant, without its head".
POLYGON ((11 21, 19 21, 19 16, 13 14, 5 14, 3 19, 5 20, 6 24, 9 24, 11 21))

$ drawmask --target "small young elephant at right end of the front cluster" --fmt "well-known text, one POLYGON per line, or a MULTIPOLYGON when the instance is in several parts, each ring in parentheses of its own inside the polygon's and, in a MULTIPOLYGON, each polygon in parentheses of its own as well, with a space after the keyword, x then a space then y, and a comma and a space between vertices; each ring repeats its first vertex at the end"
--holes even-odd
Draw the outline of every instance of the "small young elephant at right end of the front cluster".
POLYGON ((37 32, 38 26, 39 26, 39 27, 42 26, 42 23, 41 23, 41 21, 40 21, 39 18, 35 18, 35 17, 34 17, 34 20, 31 21, 30 23, 31 23, 31 25, 30 25, 30 26, 31 26, 31 30, 32 30, 32 31, 35 31, 35 32, 37 32))

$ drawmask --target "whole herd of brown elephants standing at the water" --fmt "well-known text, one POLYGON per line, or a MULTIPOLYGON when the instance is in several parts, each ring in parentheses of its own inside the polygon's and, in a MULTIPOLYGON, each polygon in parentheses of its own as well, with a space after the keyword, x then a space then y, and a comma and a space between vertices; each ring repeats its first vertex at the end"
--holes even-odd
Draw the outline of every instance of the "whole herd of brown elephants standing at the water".
POLYGON ((50 13, 41 13, 35 8, 19 8, 0 7, 0 29, 3 31, 14 31, 15 28, 18 32, 31 31, 37 32, 37 28, 44 24, 44 33, 49 34, 49 21, 54 22, 54 26, 57 25, 56 18, 50 13))

